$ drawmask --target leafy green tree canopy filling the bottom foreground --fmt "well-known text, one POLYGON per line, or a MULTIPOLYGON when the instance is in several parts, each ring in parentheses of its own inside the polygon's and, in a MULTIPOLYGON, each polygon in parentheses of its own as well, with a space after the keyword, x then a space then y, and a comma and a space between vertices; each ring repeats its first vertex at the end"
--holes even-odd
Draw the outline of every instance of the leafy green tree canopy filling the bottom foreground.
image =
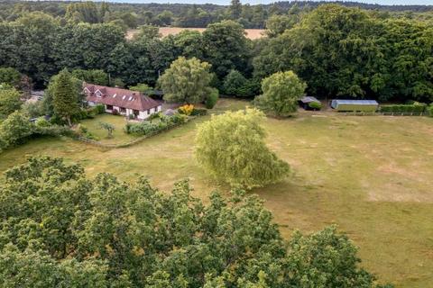
POLYGON ((0 286, 374 287, 336 229, 287 244, 257 195, 194 198, 30 158, 0 182, 0 286), (253 228, 253 229, 252 229, 253 228))

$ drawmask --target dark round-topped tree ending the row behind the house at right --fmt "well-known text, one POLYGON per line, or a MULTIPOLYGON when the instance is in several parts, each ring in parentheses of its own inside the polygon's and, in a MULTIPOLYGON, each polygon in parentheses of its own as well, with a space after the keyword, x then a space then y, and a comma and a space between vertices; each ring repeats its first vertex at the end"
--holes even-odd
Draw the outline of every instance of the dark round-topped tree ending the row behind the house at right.
POLYGON ((228 20, 208 25, 203 32, 203 48, 206 61, 220 79, 231 69, 250 72, 251 44, 241 24, 228 20))

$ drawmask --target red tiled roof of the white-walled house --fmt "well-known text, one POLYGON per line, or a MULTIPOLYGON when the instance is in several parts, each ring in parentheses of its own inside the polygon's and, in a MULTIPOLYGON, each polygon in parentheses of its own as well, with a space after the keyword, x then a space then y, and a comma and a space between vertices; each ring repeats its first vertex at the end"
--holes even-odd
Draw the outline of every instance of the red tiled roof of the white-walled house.
POLYGON ((83 93, 86 94, 86 100, 89 102, 102 103, 138 111, 146 111, 161 105, 161 103, 156 102, 152 98, 143 95, 138 91, 122 88, 85 83, 83 85, 83 93), (98 91, 100 96, 97 96, 98 91))

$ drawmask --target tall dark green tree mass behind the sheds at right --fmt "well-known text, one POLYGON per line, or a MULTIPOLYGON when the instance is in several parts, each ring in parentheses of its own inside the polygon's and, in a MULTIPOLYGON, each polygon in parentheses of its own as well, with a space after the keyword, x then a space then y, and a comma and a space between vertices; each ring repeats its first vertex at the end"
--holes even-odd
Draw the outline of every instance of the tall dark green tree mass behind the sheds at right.
POLYGON ((257 77, 293 70, 321 98, 433 100, 433 26, 426 21, 329 4, 270 36, 253 59, 257 77))

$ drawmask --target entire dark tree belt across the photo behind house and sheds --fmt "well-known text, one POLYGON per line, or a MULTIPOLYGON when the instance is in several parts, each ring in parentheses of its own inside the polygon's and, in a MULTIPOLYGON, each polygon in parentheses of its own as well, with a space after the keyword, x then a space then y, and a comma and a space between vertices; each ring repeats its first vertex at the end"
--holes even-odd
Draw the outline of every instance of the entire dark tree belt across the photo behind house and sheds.
MULTIPOLYGON (((260 40, 248 40, 234 20, 211 23, 203 33, 164 38, 156 27, 143 25, 126 40, 122 25, 98 23, 95 17, 105 17, 101 7, 84 4, 95 8, 81 15, 92 23, 64 22, 41 12, 0 23, 0 67, 14 67, 38 86, 64 67, 103 70, 108 73, 104 84, 153 86, 172 61, 195 57, 211 65, 211 85, 221 94, 252 97, 261 93, 264 77, 291 70, 306 82, 307 93, 319 98, 428 102, 433 97, 429 19, 336 4, 308 13, 292 6, 268 20, 268 37, 260 40)), ((80 18, 81 8, 69 6, 67 14, 80 18)), ((234 2, 228 9, 235 18, 244 6, 234 2)))

